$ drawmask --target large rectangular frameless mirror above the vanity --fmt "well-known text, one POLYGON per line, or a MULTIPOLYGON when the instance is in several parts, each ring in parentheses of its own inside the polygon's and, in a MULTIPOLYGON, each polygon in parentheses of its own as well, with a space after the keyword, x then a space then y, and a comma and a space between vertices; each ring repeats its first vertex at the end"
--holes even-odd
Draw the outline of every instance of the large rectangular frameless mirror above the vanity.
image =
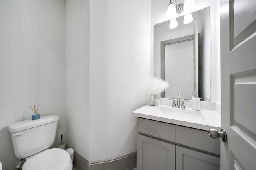
MULTIPOLYGON (((162 98, 191 100, 193 93, 210 101, 210 7, 192 13, 194 20, 169 29, 169 21, 154 25, 154 76, 168 81, 162 98)), ((160 97, 160 96, 156 96, 160 97)))

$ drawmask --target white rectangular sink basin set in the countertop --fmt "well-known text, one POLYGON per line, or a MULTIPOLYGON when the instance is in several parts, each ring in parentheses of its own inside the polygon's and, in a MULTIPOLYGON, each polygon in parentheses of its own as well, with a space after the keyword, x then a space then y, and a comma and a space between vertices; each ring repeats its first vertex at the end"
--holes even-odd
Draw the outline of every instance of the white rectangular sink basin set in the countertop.
POLYGON ((200 111, 173 108, 173 107, 160 107, 156 110, 158 114, 172 115, 175 117, 186 117, 191 119, 198 119, 199 117, 204 119, 200 111))

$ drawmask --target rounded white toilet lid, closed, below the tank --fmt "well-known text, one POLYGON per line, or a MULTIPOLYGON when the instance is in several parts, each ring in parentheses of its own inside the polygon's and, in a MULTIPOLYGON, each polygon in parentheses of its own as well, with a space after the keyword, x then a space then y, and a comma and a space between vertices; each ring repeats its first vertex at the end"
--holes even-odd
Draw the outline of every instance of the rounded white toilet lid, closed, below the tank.
POLYGON ((72 161, 63 149, 52 148, 31 156, 22 170, 72 170, 72 161))

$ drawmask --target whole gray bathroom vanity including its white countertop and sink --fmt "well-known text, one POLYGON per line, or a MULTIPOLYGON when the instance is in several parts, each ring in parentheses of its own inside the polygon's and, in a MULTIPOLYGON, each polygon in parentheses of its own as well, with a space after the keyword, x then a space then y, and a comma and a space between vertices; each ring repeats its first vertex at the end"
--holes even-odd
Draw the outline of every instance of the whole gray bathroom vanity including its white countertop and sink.
POLYGON ((138 122, 138 170, 218 170, 220 114, 171 106, 143 106, 133 112, 138 122))

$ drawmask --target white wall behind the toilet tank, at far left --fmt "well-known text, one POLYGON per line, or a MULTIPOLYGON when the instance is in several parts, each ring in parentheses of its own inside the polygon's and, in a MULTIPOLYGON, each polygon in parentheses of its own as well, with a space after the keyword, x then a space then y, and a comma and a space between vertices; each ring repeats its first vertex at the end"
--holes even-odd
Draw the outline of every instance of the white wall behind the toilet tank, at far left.
POLYGON ((41 116, 58 115, 58 137, 65 133, 65 2, 1 0, 0 6, 0 160, 13 170, 19 160, 7 127, 29 119, 29 105, 40 104, 41 116))

